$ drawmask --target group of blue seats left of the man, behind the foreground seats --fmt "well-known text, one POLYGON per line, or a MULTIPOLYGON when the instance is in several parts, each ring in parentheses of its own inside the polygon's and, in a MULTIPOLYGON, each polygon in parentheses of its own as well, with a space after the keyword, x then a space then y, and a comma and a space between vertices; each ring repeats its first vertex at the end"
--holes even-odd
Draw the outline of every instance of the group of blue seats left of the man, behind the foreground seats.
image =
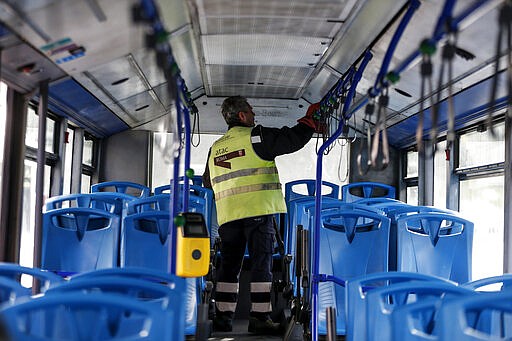
MULTIPOLYGON (((89 194, 48 199, 43 213, 41 267, 61 276, 115 267, 169 272, 169 191, 169 185, 161 186, 148 196, 144 186, 114 182, 93 185, 89 194), (115 192, 101 191, 105 187, 115 192)), ((211 190, 190 186, 188 211, 202 213, 208 227, 212 205, 211 190)), ((187 335, 196 333, 198 305, 206 286, 202 277, 185 281, 187 335)))

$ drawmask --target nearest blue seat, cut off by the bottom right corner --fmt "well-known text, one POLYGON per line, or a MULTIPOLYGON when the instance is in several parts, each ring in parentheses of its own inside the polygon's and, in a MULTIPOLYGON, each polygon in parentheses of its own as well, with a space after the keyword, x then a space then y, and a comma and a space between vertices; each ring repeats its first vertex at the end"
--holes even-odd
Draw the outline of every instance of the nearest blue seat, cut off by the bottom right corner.
POLYGON ((451 300, 439 307, 440 340, 512 339, 512 291, 451 300))

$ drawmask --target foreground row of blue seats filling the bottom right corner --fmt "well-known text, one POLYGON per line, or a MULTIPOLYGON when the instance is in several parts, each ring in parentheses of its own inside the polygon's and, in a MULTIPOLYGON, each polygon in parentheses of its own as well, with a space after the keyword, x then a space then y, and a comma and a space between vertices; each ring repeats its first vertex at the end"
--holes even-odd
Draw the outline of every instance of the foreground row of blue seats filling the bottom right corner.
POLYGON ((512 274, 458 285, 411 272, 345 282, 346 340, 509 340, 512 274))

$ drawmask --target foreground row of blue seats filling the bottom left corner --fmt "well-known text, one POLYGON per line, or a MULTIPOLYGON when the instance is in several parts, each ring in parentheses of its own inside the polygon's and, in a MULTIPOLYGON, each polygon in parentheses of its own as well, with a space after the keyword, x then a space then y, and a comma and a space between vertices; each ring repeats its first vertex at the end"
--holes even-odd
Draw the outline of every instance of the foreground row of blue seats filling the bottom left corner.
POLYGON ((144 268, 84 272, 64 280, 0 264, 0 321, 10 340, 184 340, 186 281, 144 268), (33 288, 22 276, 37 279, 33 288))

